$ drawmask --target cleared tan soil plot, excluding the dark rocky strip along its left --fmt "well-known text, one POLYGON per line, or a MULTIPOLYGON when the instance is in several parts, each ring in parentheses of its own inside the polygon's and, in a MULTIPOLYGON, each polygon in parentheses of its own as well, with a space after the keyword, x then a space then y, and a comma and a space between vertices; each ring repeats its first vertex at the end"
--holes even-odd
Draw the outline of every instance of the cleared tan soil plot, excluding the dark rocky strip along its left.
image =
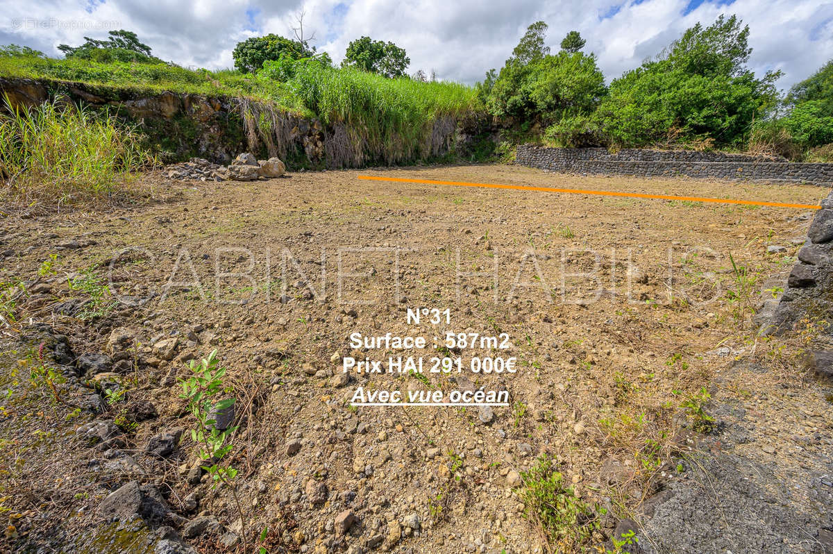
MULTIPOLYGON (((164 475, 175 491, 173 505, 182 508, 177 502, 192 486, 177 467, 193 462, 190 439, 166 460, 142 449, 163 429, 192 426, 173 378, 186 373, 180 359, 214 348, 228 367, 238 416, 245 417, 234 456, 243 505, 254 506, 250 534, 268 525, 278 535, 285 530, 285 543, 311 548, 319 539, 350 545, 377 535, 392 545, 400 542, 393 538, 400 537, 399 524, 390 522, 416 513, 421 537, 413 537, 416 529, 400 529, 402 545, 416 552, 426 544, 434 552, 463 552, 476 541, 490 552, 531 552, 543 536, 520 511, 517 492, 523 489, 511 486, 514 472, 529 470, 543 454, 581 502, 606 504, 624 517, 669 469, 682 424, 698 423, 681 405, 697 405, 701 387, 733 358, 750 354, 748 318, 761 295, 778 293, 764 283, 791 267, 799 247, 794 239, 805 234, 811 213, 363 182, 359 174, 805 204, 826 194, 797 185, 462 166, 293 173, 268 182, 184 187, 157 181, 162 191, 177 187, 168 202, 103 215, 7 220, 5 241, 17 254, 4 260, 3 280, 33 278, 57 253, 59 275, 92 267, 106 279, 113 260, 114 291, 132 299, 156 295, 135 309, 105 303, 105 316, 86 327, 48 315, 57 331, 82 345, 77 353, 101 352, 112 327, 135 327, 138 356, 147 363, 125 386, 132 398, 154 402, 159 417, 127 435, 141 474, 125 466, 107 480, 91 478, 82 471, 90 453, 78 447, 67 449, 60 462, 39 457, 24 464, 17 478, 31 480, 27 487, 35 497, 58 478, 70 497, 79 487, 88 496, 27 516, 22 528, 75 537, 78 528, 94 527, 104 481, 112 487, 164 475), (57 249, 69 240, 87 246, 57 249), (770 246, 784 248, 768 252, 770 246), (127 247, 132 252, 113 258, 127 247), (407 307, 449 308, 451 323, 409 325, 407 307), (465 367, 472 357, 516 357, 518 371, 353 375, 346 385, 332 378, 346 356, 427 361, 434 355, 351 349, 352 332, 430 341, 452 331, 507 333, 511 347, 499 353, 491 342, 477 342, 444 354, 461 357, 465 367), (172 333, 181 342, 177 358, 146 352, 153 339, 172 333), (484 387, 509 392, 511 406, 496 407, 491 416, 472 407, 351 408, 360 386, 405 392, 484 387), (291 455, 287 442, 294 439, 302 446, 291 455), (326 504, 311 505, 310 493, 321 492, 310 480, 327 486, 326 504), (85 503, 88 515, 66 522, 57 517, 85 503), (360 524, 342 538, 327 522, 346 508, 360 524), (296 528, 285 527, 287 513, 296 528)), ((46 317, 57 302, 80 293, 62 279, 49 294, 22 303, 22 313, 46 317)), ((6 352, 4 367, 19 357, 6 352)), ((16 409, 37 412, 27 402, 16 409)), ((83 413, 71 425, 89 419, 83 413)), ((3 438, 20 428, 0 427, 3 438)), ((58 433, 54 441, 71 439, 58 433)), ((35 452, 27 444, 18 446, 22 457, 35 452)), ((199 488, 200 510, 227 524, 236 520, 228 492, 199 488)), ((606 527, 611 521, 602 517, 599 530, 589 534, 601 539, 612 531, 606 527)), ((567 547, 583 540, 566 529, 550 528, 551 539, 567 547)))

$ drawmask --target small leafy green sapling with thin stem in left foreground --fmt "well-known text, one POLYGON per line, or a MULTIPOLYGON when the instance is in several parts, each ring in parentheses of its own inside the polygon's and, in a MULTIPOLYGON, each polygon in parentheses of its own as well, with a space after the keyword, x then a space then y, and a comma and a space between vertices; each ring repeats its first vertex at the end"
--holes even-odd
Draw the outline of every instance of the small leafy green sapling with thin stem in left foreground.
POLYGON ((197 425, 191 430, 191 438, 199 448, 200 459, 206 463, 202 469, 212 477, 214 487, 222 483, 232 491, 242 522, 243 549, 246 552, 246 518, 234 484, 237 469, 232 467, 227 458, 234 448, 231 437, 237 427, 218 429, 216 416, 212 415, 227 410, 235 402, 234 398, 217 401, 217 396, 224 391, 222 377, 226 374, 226 368, 220 366, 217 350, 214 350, 199 363, 194 360, 189 362, 188 369, 191 375, 179 379, 179 384, 182 387, 180 397, 187 401, 188 410, 197 420, 197 425))

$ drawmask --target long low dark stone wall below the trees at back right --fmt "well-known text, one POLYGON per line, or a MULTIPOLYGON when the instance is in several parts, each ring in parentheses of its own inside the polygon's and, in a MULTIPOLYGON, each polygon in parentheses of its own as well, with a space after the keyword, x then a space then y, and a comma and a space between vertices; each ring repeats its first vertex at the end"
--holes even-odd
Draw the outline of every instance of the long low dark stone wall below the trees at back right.
POLYGON ((549 148, 523 144, 516 163, 551 172, 635 177, 696 177, 767 182, 833 184, 833 163, 795 163, 782 157, 724 152, 606 148, 549 148))

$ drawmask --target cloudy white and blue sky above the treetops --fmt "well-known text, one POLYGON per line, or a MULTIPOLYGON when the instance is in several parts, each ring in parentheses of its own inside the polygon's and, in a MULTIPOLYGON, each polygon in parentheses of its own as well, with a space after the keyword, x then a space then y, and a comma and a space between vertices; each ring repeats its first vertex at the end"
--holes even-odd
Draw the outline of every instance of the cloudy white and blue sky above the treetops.
POLYGON ((335 62, 350 41, 367 35, 405 48, 408 72, 433 70, 437 78, 468 84, 500 68, 539 20, 549 25, 553 52, 567 32, 581 32, 608 82, 721 13, 736 13, 749 25, 749 65, 761 75, 780 69, 780 88, 833 58, 833 1, 821 0, 0 0, 0 44, 58 57, 58 44, 77 46, 85 36, 106 38, 124 28, 157 57, 217 69, 233 66, 234 46, 248 37, 291 37, 299 12, 305 35, 315 32, 312 44, 335 62))

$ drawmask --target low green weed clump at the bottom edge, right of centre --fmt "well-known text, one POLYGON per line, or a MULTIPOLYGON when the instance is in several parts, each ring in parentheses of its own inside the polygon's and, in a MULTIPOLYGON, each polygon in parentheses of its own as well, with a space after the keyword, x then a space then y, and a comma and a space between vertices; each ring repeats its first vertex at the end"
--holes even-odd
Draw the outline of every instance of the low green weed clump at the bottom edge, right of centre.
POLYGON ((528 472, 521 472, 524 514, 541 528, 551 552, 584 552, 600 542, 599 519, 604 508, 591 507, 556 472, 554 463, 543 456, 528 472))

